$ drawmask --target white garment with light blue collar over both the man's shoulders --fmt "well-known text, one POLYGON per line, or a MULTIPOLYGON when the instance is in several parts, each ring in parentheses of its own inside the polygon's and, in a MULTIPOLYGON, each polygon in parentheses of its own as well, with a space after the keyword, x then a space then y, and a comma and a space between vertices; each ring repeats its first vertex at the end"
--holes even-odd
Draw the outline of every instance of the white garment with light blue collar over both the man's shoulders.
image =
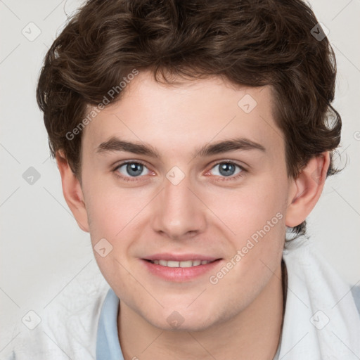
MULTIPOLYGON (((360 288, 342 281, 310 241, 295 241, 283 254, 288 293, 274 360, 360 359, 360 288)), ((119 299, 97 266, 86 276, 53 301, 34 330, 22 323, 14 328, 10 337, 19 333, 0 359, 124 360, 117 334, 119 299)))

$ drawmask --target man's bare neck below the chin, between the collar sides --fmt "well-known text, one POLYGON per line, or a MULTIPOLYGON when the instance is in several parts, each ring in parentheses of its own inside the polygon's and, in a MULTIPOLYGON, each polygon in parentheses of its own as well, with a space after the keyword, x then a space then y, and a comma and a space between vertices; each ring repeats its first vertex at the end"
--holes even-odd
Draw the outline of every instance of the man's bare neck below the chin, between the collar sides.
POLYGON ((117 323, 124 360, 221 360, 239 359, 239 354, 243 360, 273 359, 281 337, 284 280, 279 265, 246 309, 202 331, 155 328, 122 302, 117 323))

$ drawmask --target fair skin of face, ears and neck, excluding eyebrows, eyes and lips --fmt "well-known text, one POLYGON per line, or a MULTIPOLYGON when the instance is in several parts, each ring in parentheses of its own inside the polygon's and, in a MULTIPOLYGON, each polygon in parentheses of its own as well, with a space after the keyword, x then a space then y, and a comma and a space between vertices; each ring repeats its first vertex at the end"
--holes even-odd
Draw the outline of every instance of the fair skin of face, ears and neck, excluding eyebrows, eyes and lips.
POLYGON ((271 88, 233 86, 221 77, 155 82, 148 71, 131 81, 121 101, 109 105, 82 134, 82 182, 61 151, 57 162, 63 193, 93 246, 105 238, 113 250, 94 251, 106 281, 120 298, 117 319, 124 359, 272 359, 281 335, 281 257, 285 226, 300 224, 319 200, 328 152, 288 177, 285 143, 272 114, 271 88), (238 101, 257 105, 245 113, 238 101), (96 153, 112 136, 148 143, 160 159, 112 151, 96 153), (194 157, 195 149, 245 137, 266 149, 231 150, 194 157), (143 162, 132 176, 125 160, 143 162), (219 162, 233 162, 233 174, 219 162), (184 179, 172 184, 172 167, 184 179), (115 174, 132 179, 125 181, 115 174), (315 176, 314 176, 315 175, 315 176), (316 180, 314 180, 316 179, 316 180), (280 213, 282 219, 218 283, 217 274, 252 234, 280 213), (221 258, 211 274, 165 281, 146 271, 141 258, 158 252, 221 258), (173 311, 184 322, 174 328, 173 311))

